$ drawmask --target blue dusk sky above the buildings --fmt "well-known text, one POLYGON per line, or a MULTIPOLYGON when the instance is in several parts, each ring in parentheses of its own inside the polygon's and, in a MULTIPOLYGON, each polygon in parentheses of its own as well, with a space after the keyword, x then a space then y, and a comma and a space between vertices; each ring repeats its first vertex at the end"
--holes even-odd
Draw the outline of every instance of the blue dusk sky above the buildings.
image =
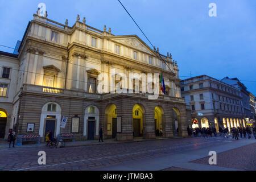
MULTIPOLYGON (((0 44, 15 47, 40 2, 48 18, 69 26, 85 16, 86 24, 114 35, 143 34, 117 0, 26 1, 0 0, 0 44)), ((162 54, 172 53, 180 78, 209 75, 217 79, 238 77, 256 95, 255 0, 121 0, 150 42, 162 54), (217 17, 210 17, 209 3, 216 3, 217 17), (254 82, 253 82, 254 81, 254 82)), ((1 51, 13 52, 0 46, 1 51)))

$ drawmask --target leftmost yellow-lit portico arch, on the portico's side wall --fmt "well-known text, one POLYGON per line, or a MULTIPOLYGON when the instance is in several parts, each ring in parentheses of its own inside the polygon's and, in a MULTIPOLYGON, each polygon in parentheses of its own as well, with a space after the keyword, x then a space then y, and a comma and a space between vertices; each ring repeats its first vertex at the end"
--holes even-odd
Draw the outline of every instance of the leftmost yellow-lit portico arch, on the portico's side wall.
POLYGON ((107 122, 107 134, 115 138, 117 136, 117 107, 110 104, 105 109, 105 116, 107 122))

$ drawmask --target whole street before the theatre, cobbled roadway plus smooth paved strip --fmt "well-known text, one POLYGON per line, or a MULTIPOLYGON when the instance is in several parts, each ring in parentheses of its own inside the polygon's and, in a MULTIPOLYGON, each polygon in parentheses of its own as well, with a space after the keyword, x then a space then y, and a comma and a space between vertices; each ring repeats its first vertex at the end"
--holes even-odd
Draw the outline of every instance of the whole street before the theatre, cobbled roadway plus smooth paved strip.
MULTIPOLYGON (((95 141, 97 142, 97 141, 95 141)), ((0 148, 2 170, 237 170, 227 167, 194 163, 205 158, 210 150, 218 154, 234 148, 254 144, 255 139, 232 140, 217 138, 179 138, 142 142, 111 143, 79 147, 48 148, 22 146, 0 148), (46 165, 38 164, 38 152, 46 151, 46 165)), ((255 146, 255 145, 254 145, 255 146)), ((255 147, 251 147, 250 160, 255 161, 255 147), (253 155, 254 154, 254 155, 253 155)), ((244 152, 244 151, 243 151, 244 152)), ((239 151, 230 155, 239 156, 239 151)), ((243 156, 245 159, 245 156, 243 156)), ((248 160, 248 159, 245 159, 248 160)), ((256 169, 253 166, 254 170, 256 169)))

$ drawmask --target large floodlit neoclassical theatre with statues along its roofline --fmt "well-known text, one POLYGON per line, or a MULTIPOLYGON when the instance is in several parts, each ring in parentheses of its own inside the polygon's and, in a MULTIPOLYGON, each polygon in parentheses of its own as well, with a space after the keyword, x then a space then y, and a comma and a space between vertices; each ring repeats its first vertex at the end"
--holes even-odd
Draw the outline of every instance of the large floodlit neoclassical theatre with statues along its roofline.
POLYGON ((157 130, 173 137, 177 128, 186 136, 186 104, 171 54, 151 49, 137 35, 116 36, 111 28, 98 30, 85 22, 78 15, 70 27, 68 20, 61 24, 34 14, 18 56, 11 58, 18 62, 12 70, 16 82, 7 88, 14 92, 9 104, 15 109, 0 106, 14 118, 6 130, 40 134, 42 140, 49 129, 55 137, 75 133, 76 140, 96 139, 101 128, 104 138, 117 140, 155 138, 157 130), (160 91, 149 100, 160 90, 160 73, 166 94, 160 91), (65 127, 63 117, 68 118, 65 127))

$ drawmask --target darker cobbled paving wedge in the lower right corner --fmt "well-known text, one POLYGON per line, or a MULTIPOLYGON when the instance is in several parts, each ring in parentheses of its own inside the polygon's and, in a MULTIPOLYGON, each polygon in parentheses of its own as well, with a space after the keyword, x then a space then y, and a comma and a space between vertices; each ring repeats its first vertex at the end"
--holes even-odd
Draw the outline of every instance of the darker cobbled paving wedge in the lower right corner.
MULTIPOLYGON (((202 158, 194 160, 191 163, 206 164, 208 163, 208 158, 202 158)), ((256 143, 249 144, 247 146, 234 148, 232 150, 221 152, 217 154, 217 164, 216 166, 236 168, 247 171, 256 170, 256 143)))

